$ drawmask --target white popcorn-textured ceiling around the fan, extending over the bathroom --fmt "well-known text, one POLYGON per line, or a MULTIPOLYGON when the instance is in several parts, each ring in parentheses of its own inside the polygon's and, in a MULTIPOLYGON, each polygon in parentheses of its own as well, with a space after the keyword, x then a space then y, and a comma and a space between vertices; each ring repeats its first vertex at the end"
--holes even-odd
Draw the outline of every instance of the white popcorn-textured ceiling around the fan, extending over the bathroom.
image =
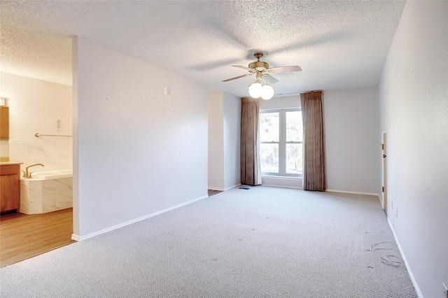
POLYGON ((376 85, 405 1, 1 1, 1 71, 71 85, 71 37, 83 36, 247 96, 265 52, 276 94, 376 85))

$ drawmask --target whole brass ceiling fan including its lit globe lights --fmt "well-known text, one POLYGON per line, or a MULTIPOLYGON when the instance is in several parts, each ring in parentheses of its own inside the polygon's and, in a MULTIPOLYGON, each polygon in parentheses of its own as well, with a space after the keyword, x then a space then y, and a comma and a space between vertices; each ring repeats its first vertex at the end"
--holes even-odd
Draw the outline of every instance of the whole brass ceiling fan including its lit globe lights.
POLYGON ((252 76, 253 73, 256 74, 256 79, 249 85, 249 94, 251 97, 257 99, 261 97, 262 99, 272 99, 274 96, 274 89, 269 85, 269 83, 277 83, 279 80, 273 78, 269 73, 284 73, 287 71, 302 71, 300 66, 281 66, 274 67, 269 69, 269 64, 267 62, 260 61, 260 58, 263 57, 262 52, 255 52, 253 54, 255 58, 257 58, 256 62, 249 63, 248 67, 232 65, 234 67, 238 67, 239 69, 246 69, 249 73, 246 73, 242 76, 237 76, 235 78, 228 78, 227 80, 223 80, 223 82, 228 82, 230 80, 236 80, 237 78, 244 78, 245 76, 252 76), (265 76, 265 80, 263 80, 263 76, 265 76))

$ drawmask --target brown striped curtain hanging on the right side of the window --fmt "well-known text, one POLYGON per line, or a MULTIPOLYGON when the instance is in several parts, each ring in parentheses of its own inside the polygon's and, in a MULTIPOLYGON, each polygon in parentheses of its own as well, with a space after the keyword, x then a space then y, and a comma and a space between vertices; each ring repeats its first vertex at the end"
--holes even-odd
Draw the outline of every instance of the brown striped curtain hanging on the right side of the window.
POLYGON ((322 92, 300 94, 304 135, 303 189, 325 191, 322 92))

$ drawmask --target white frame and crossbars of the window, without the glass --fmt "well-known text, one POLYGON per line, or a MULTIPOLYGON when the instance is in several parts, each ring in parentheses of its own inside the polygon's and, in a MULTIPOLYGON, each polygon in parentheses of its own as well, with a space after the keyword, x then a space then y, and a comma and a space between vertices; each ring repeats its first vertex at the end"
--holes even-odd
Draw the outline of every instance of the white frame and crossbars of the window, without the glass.
MULTIPOLYGON (((294 111, 302 111, 301 108, 275 108, 275 109, 269 109, 269 110, 261 110, 260 115, 264 113, 279 113, 279 141, 271 141, 271 142, 262 142, 260 140, 260 146, 262 143, 266 144, 279 144, 279 173, 272 173, 272 172, 262 172, 262 176, 285 176, 285 177, 302 177, 302 173, 286 173, 286 144, 288 143, 298 143, 302 144, 303 148, 303 141, 286 141, 286 112, 294 112, 294 111)), ((261 128, 261 123, 259 124, 261 128)), ((302 138, 303 140, 303 138, 302 138)), ((303 159, 303 157, 302 157, 303 159)))

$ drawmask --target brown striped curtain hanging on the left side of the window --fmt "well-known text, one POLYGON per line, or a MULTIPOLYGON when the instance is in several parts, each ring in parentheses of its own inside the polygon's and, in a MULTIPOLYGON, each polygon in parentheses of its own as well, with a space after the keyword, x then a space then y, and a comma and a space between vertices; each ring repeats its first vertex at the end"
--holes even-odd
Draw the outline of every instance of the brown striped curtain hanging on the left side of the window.
POLYGON ((241 184, 260 185, 258 115, 260 99, 241 98, 241 184))

